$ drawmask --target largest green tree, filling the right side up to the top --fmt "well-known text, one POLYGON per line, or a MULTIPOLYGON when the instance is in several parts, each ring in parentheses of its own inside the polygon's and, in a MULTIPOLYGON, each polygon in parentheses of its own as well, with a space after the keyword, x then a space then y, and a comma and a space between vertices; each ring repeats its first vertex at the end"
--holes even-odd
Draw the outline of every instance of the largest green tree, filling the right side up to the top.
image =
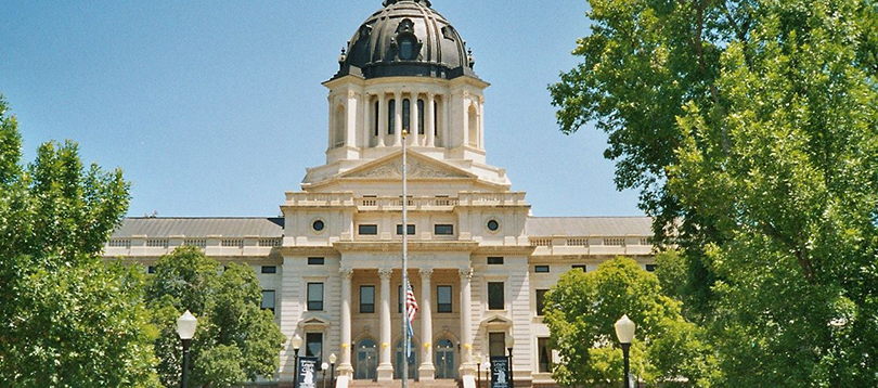
POLYGON ((878 5, 591 4, 559 122, 597 120, 659 240, 680 225, 721 385, 878 386, 878 5))

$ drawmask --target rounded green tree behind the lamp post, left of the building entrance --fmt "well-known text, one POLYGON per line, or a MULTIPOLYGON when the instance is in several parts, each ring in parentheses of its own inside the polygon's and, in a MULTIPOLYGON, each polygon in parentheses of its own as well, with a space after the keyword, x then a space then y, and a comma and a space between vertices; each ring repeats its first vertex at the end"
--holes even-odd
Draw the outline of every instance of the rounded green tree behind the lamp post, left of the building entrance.
POLYGON ((180 381, 176 322, 186 310, 198 319, 190 350, 193 387, 225 387, 277 371, 286 338, 271 311, 261 310, 262 293, 250 267, 229 263, 223 269, 197 247, 177 248, 158 261, 146 294, 162 332, 155 349, 166 386, 180 381))

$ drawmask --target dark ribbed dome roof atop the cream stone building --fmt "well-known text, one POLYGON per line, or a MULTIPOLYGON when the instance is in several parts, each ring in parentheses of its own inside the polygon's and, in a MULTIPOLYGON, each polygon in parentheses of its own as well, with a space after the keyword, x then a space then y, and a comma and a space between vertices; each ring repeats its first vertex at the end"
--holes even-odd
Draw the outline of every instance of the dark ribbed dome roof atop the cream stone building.
POLYGON ((385 0, 383 5, 343 50, 333 78, 476 76, 466 42, 429 0, 385 0))

